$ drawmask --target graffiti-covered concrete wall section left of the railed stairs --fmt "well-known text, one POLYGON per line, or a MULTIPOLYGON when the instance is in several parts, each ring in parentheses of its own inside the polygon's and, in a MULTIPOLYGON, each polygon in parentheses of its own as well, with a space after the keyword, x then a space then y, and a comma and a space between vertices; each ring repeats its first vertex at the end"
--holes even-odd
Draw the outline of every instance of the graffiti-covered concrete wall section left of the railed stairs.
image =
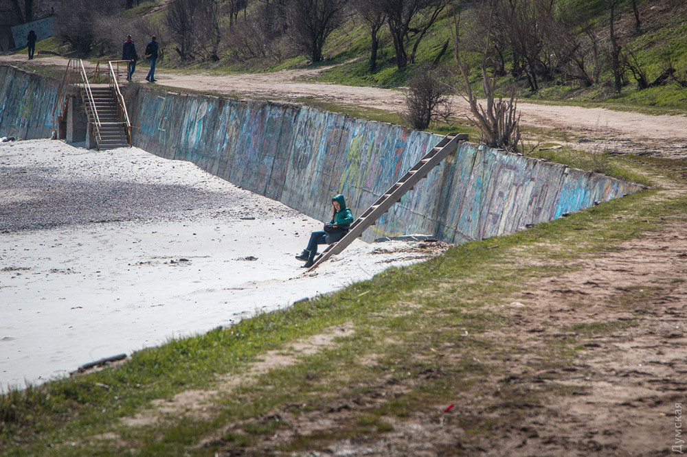
POLYGON ((0 137, 51 137, 59 84, 36 73, 0 67, 0 137))

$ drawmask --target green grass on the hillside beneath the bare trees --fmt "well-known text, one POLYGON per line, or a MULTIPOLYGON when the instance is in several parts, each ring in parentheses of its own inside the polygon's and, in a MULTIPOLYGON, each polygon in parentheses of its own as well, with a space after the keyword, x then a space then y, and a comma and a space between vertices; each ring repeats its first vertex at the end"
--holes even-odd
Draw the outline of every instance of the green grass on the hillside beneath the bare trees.
MULTIPOLYGON (((137 8, 124 12, 126 19, 147 16, 153 21, 159 21, 161 12, 151 13, 159 1, 143 3, 137 8)), ((601 0, 592 2, 583 0, 565 0, 561 7, 569 5, 572 11, 585 10, 592 14, 593 22, 597 27, 606 30, 607 12, 606 3, 601 0), (581 7, 580 5, 585 5, 581 7), (596 16, 594 16, 596 15, 596 16)), ((640 8, 646 6, 646 1, 640 1, 640 8)), ((644 26, 640 33, 630 33, 624 36, 624 49, 633 51, 638 56, 639 62, 646 70, 649 81, 653 81, 668 63, 672 63, 677 69, 677 74, 687 78, 687 43, 681 37, 687 31, 687 25, 682 20, 681 14, 669 14, 663 18, 654 19, 658 22, 648 22, 647 12, 642 10, 644 16, 644 26)), ((248 14, 252 14, 249 8, 248 14)), ((631 23, 631 10, 629 4, 623 3, 618 12, 621 21, 631 23)), ((473 11, 466 10, 463 13, 464 30, 469 32, 473 11)), ((413 24, 420 27, 422 21, 418 18, 413 24)), ((181 65, 175 61, 174 43, 166 43, 167 56, 164 61, 159 62, 161 68, 169 68, 185 71, 208 71, 213 74, 226 74, 232 72, 255 72, 279 71, 282 69, 295 68, 319 68, 326 67, 319 73, 314 80, 320 82, 333 82, 337 84, 348 84, 358 86, 379 86, 384 88, 403 87, 407 84, 410 75, 418 67, 431 64, 436 60, 440 49, 450 38, 446 18, 442 15, 434 23, 418 47, 418 54, 415 62, 404 69, 398 69, 394 59, 394 47, 392 38, 387 27, 382 27, 380 32, 381 48, 379 50, 378 68, 370 72, 368 69, 368 59, 370 53, 369 32, 362 21, 347 21, 343 26, 337 28, 328 36, 324 46, 325 60, 317 64, 308 65, 307 56, 295 55, 293 51, 284 47, 282 58, 252 59, 245 62, 234 62, 225 55, 220 62, 194 62, 190 65, 181 65)), ((412 43, 416 36, 410 34, 411 43, 407 45, 412 49, 412 43)), ((38 43, 38 49, 52 49, 60 51, 60 43, 54 38, 43 40, 38 43)), ((22 51, 23 52, 23 51, 22 51)), ((117 56, 113 56, 117 57, 117 56)), ((477 75, 480 58, 477 54, 469 56, 473 74, 477 75)), ((449 43, 446 53, 440 62, 448 67, 453 67, 453 46, 449 43)), ((605 71, 598 84, 589 89, 581 89, 574 83, 561 84, 561 76, 555 75, 551 81, 542 81, 541 88, 536 93, 528 91, 522 79, 506 76, 499 78, 499 90, 504 94, 510 93, 514 89, 523 101, 553 104, 575 104, 577 106, 602 107, 612 110, 631 110, 652 115, 657 114, 682 114, 687 110, 687 89, 677 84, 669 83, 665 86, 654 87, 651 89, 639 90, 633 82, 631 75, 628 74, 628 84, 622 88, 620 94, 611 90, 609 81, 611 80, 609 71, 605 71)), ((473 78, 473 90, 479 95, 481 84, 477 78, 473 78)))

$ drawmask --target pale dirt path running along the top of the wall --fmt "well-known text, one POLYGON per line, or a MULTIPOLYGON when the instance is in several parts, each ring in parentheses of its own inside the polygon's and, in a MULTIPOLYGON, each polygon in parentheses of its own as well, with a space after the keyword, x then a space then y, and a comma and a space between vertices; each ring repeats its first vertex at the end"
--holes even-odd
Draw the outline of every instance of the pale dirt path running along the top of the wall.
MULTIPOLYGON (((61 57, 42 57, 34 65, 64 67, 67 60, 61 57)), ((17 56, 0 56, 0 64, 25 65, 26 60, 17 56)), ((145 64, 139 65, 135 81, 144 82, 145 64)), ((341 86, 310 82, 316 70, 284 70, 275 73, 193 75, 159 69, 155 75, 158 84, 194 91, 211 91, 222 94, 269 97, 292 100, 317 97, 343 104, 364 106, 401 113, 404 108, 403 91, 376 87, 341 86)), ((570 141, 594 139, 576 143, 577 148, 587 150, 613 150, 616 152, 650 152, 666 157, 687 157, 687 117, 685 115, 651 116, 624 113, 602 108, 578 106, 548 106, 520 103, 521 120, 525 126, 567 132, 570 141)), ((458 115, 466 115, 468 106, 461 97, 454 97, 458 115)))

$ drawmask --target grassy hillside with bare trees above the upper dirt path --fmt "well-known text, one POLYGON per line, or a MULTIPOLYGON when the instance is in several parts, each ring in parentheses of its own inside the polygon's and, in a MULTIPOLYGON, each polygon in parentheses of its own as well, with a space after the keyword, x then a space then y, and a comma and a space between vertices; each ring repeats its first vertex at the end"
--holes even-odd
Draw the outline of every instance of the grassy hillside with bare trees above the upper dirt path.
POLYGON ((453 35, 473 71, 520 93, 687 87, 680 0, 74 0, 57 19, 56 36, 81 56, 115 56, 128 32, 157 34, 171 67, 326 62, 339 68, 324 78, 396 86, 416 67, 453 66, 453 35))

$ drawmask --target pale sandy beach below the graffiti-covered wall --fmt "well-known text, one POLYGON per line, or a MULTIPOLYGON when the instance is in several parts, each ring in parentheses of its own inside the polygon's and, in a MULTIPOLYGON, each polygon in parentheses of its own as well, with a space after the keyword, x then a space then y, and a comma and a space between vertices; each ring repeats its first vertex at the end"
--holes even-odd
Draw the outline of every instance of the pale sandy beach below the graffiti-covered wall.
POLYGON ((320 226, 137 148, 0 144, 0 387, 67 375, 408 263, 383 261, 407 253, 371 255, 379 244, 357 241, 304 273, 293 255, 320 226))

